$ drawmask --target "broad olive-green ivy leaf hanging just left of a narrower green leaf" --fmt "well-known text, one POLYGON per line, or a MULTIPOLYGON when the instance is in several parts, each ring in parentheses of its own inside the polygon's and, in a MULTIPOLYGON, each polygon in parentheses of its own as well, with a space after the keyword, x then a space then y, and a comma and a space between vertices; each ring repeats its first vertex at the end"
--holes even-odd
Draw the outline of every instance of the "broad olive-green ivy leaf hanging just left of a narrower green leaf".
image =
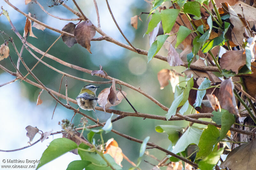
POLYGON ((196 159, 206 158, 213 149, 220 138, 220 131, 215 126, 208 124, 208 127, 204 129, 199 140, 199 152, 196 153, 196 159))

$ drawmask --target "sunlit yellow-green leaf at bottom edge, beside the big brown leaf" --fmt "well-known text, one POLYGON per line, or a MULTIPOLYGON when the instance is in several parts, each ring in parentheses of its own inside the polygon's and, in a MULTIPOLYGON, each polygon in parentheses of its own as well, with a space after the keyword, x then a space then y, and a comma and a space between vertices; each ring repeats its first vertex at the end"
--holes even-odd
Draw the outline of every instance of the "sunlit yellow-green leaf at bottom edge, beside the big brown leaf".
POLYGON ((211 152, 205 159, 198 163, 198 167, 203 170, 212 170, 212 168, 218 163, 223 151, 224 148, 220 148, 217 152, 211 152))

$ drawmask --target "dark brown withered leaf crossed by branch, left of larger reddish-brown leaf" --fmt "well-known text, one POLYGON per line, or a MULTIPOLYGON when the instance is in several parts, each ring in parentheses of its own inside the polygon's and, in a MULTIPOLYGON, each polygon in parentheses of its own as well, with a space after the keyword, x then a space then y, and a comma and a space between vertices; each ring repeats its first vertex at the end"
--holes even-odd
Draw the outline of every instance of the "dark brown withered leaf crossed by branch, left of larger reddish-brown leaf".
MULTIPOLYGON (((62 31, 65 31, 67 33, 71 33, 74 34, 76 28, 76 24, 69 22, 68 24, 66 24, 63 28, 62 31)), ((62 35, 61 36, 62 41, 68 46, 68 47, 72 47, 74 44, 77 43, 76 38, 74 37, 69 37, 67 35, 62 35)))

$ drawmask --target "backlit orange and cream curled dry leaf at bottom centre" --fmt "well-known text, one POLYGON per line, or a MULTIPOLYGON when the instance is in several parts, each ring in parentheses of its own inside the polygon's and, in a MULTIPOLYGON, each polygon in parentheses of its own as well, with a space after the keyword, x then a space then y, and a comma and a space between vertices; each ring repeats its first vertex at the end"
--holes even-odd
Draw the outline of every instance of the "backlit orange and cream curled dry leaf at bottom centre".
POLYGON ((114 158, 115 162, 121 166, 121 162, 123 160, 123 152, 122 149, 118 147, 117 142, 114 138, 111 138, 106 143, 106 151, 104 154, 108 153, 112 158, 114 158))

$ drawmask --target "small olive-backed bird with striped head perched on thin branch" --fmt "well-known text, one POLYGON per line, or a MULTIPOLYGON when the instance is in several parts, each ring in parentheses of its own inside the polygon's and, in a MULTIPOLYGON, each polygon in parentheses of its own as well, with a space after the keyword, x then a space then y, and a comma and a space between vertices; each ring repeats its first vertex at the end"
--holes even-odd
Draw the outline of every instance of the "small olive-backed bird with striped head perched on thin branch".
MULTIPOLYGON (((99 87, 96 87, 95 85, 85 85, 79 95, 76 97, 77 104, 80 108, 84 110, 93 110, 95 115, 95 107, 97 106, 97 96, 96 96, 96 90, 99 87)), ((79 108, 78 108, 79 110, 79 108)), ((99 122, 98 116, 97 121, 99 122)))

